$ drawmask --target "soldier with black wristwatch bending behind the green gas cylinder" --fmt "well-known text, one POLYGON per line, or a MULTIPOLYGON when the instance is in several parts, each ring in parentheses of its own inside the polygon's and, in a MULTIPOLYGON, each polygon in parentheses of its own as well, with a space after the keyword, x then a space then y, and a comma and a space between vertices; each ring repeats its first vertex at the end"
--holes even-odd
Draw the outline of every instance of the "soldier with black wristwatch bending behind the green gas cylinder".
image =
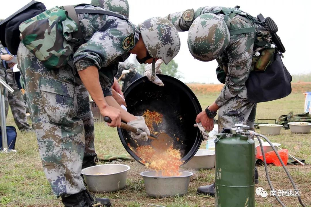
MULTIPOLYGON (((254 129, 256 104, 249 103, 245 82, 252 66, 254 32, 233 34, 253 25, 254 17, 236 8, 200 7, 167 16, 178 31, 188 31, 190 53, 199 61, 217 60, 227 74, 225 85, 214 103, 197 115, 196 122, 203 132, 211 131, 218 110, 218 132, 235 124, 254 129), (231 35, 230 35, 231 33, 231 35), (201 128, 202 129, 202 128, 201 128)), ((258 173, 255 174, 258 180, 258 173)), ((198 193, 215 194, 215 185, 199 187, 198 193)))

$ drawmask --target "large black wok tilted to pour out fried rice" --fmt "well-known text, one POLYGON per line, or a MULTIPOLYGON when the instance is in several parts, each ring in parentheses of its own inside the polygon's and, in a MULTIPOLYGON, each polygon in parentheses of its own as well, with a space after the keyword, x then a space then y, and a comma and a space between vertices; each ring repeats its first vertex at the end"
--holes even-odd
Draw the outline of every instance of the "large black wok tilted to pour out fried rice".
MULTIPOLYGON (((184 83, 168 75, 158 74, 158 76, 164 86, 157 86, 144 76, 125 90, 127 109, 135 116, 142 116, 147 109, 162 114, 162 123, 158 126, 154 124, 154 129, 156 132, 165 132, 174 139, 173 147, 180 149, 182 160, 186 163, 197 152, 202 142, 199 129, 193 127, 196 116, 202 108, 197 97, 184 83)), ((141 159, 128 144, 135 149, 137 145, 146 145, 150 141, 135 142, 130 133, 121 128, 118 128, 118 134, 128 153, 140 162, 141 159)))

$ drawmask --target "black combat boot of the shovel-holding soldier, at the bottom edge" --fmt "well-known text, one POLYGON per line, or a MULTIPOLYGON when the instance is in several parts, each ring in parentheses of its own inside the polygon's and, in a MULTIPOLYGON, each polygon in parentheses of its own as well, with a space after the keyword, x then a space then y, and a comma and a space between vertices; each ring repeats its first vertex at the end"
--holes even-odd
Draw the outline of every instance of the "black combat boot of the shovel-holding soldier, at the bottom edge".
POLYGON ((87 190, 66 197, 62 196, 62 202, 65 207, 92 207, 98 203, 101 204, 99 206, 111 206, 109 198, 95 198, 87 190))

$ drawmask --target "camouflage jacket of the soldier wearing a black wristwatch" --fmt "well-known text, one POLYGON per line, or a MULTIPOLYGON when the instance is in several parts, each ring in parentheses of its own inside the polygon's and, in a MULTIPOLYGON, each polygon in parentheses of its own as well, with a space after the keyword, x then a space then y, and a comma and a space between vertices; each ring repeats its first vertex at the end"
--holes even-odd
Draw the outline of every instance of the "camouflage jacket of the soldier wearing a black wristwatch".
MULTIPOLYGON (((188 31, 193 20, 201 14, 215 13, 213 11, 218 11, 223 8, 225 7, 200 7, 194 11, 194 14, 192 14, 193 18, 191 18, 191 12, 184 18, 183 14, 185 13, 187 15, 186 12, 169 14, 166 18, 172 21, 178 31, 188 31)), ((222 14, 218 15, 224 16, 222 14)), ((242 13, 241 15, 238 14, 232 18, 231 25, 228 28, 229 30, 233 30, 247 27, 252 27, 252 23, 245 18, 242 13)), ((231 98, 236 96, 247 98, 245 82, 248 79, 251 70, 254 38, 254 33, 230 36, 229 46, 225 49, 223 54, 216 59, 220 67, 222 67, 227 73, 224 88, 215 101, 218 106, 223 106, 231 98)))

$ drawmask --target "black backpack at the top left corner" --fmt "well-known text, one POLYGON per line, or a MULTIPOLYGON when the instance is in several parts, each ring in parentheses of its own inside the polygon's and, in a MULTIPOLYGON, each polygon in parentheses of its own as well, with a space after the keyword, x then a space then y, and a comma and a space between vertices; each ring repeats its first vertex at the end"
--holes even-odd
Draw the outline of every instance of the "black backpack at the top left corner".
POLYGON ((1 21, 0 23, 0 41, 4 47, 11 52, 12 55, 17 54, 18 45, 20 43, 19 25, 31 19, 32 17, 46 11, 43 3, 31 1, 14 14, 1 21))

